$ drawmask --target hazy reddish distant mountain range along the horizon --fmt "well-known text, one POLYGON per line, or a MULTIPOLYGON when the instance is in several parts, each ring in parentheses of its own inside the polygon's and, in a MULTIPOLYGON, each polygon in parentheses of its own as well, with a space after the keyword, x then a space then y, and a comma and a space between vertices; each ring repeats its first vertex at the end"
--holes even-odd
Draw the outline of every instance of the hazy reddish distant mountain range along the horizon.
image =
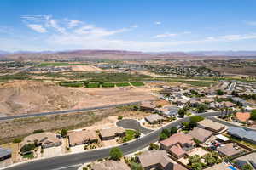
POLYGON ((192 52, 139 52, 125 50, 68 50, 68 51, 0 51, 0 57, 9 59, 240 59, 256 58, 256 51, 192 51, 192 52))

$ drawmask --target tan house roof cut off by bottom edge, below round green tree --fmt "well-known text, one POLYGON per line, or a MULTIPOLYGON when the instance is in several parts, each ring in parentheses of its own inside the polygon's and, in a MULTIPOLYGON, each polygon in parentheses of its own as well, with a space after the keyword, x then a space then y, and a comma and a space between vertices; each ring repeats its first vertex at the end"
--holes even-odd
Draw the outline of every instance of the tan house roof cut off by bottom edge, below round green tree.
POLYGON ((92 170, 131 170, 125 161, 102 161, 91 166, 92 170))

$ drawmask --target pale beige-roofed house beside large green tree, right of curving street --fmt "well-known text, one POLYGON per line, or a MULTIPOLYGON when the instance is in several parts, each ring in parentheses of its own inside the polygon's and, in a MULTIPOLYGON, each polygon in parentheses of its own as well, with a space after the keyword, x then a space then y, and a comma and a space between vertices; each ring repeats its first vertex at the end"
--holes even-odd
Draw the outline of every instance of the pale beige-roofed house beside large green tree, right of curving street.
POLYGON ((225 126, 223 124, 220 124, 218 122, 213 122, 210 119, 204 119, 203 121, 198 122, 197 127, 205 128, 214 133, 218 133, 218 132, 224 130, 224 128, 225 128, 225 126))

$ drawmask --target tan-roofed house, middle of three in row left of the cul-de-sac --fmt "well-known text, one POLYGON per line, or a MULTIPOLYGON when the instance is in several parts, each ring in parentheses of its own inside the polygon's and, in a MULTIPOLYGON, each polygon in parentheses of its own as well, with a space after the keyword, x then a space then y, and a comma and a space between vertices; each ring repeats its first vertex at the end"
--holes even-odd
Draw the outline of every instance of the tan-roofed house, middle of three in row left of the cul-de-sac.
POLYGON ((72 131, 67 133, 69 146, 88 144, 98 141, 96 132, 89 130, 72 131))

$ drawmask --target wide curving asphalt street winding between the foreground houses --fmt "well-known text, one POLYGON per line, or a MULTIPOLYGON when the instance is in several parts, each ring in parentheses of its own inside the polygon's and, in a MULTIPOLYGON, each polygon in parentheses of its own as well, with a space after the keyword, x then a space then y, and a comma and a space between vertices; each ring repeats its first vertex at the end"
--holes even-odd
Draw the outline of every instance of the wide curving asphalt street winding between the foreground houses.
MULTIPOLYGON (((221 112, 212 112, 212 113, 203 113, 201 116, 218 116, 221 112)), ((176 122, 172 122, 165 127, 162 127, 158 130, 155 130, 152 133, 148 133, 147 135, 132 141, 127 145, 119 146, 119 148, 124 152, 124 154, 130 154, 137 150, 141 150, 148 146, 150 143, 154 143, 159 139, 160 132, 163 128, 171 128, 177 127, 182 122, 189 122, 189 117, 185 117, 183 119, 177 120, 176 122)), ((58 156, 43 160, 31 161, 28 163, 23 163, 20 165, 16 165, 15 167, 6 168, 6 170, 64 170, 71 169, 69 167, 80 165, 84 162, 96 161, 97 159, 108 157, 109 151, 111 148, 105 148, 100 150, 90 150, 83 153, 72 154, 72 155, 64 155, 58 156)))

